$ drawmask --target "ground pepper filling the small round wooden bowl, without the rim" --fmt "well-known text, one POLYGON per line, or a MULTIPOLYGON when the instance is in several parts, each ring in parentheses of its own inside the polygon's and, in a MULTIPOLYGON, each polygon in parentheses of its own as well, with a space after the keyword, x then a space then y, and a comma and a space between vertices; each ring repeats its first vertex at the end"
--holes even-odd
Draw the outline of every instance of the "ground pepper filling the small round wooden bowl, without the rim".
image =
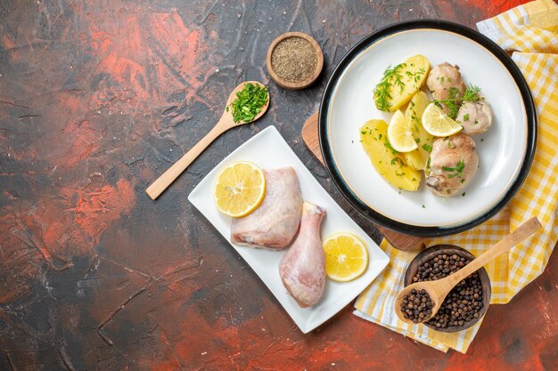
POLYGON ((316 50, 302 37, 286 38, 271 52, 271 67, 277 76, 290 83, 307 81, 316 71, 316 50))

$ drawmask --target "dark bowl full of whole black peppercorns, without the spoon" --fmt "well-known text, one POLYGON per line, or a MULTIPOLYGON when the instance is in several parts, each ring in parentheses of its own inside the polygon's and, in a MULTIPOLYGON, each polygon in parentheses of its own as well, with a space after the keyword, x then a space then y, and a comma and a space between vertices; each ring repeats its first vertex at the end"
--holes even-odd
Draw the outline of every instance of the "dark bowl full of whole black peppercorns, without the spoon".
MULTIPOLYGON (((406 270, 404 284, 409 286, 415 282, 445 278, 462 269, 473 259, 471 253, 459 246, 432 246, 414 257, 406 270)), ((484 316, 488 310, 490 295, 490 278, 487 271, 481 268, 458 283, 447 294, 436 315, 423 323, 444 333, 463 331, 472 327, 484 316)), ((405 302, 406 308, 396 310, 408 311, 407 315, 413 317, 415 312, 421 311, 420 296, 420 293, 416 293, 413 302, 408 300, 405 302), (412 307, 408 307, 409 305, 412 307)))

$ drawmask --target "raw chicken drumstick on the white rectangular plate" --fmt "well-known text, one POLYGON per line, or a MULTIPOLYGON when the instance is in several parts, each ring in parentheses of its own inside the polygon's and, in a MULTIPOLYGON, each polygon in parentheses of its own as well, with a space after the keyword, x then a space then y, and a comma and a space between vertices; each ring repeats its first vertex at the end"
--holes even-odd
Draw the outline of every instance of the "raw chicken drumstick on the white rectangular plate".
POLYGON ((324 208, 304 203, 299 236, 279 263, 283 286, 301 308, 316 304, 324 293, 325 254, 320 239, 324 215, 324 208))

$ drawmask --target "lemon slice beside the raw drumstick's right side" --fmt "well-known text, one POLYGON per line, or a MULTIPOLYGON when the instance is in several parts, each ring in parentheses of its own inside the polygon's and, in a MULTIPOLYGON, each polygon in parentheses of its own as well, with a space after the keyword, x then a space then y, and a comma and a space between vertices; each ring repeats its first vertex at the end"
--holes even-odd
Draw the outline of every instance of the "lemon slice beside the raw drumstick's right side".
POLYGON ((351 281, 368 266, 365 243, 351 233, 340 232, 325 239, 324 253, 325 273, 334 281, 351 281))

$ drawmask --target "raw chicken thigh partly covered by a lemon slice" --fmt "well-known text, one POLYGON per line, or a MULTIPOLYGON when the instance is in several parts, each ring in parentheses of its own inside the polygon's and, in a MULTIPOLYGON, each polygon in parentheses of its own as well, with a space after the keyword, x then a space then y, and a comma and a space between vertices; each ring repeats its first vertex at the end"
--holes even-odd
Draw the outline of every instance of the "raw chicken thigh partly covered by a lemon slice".
POLYGON ((292 167, 266 172, 266 197, 252 213, 234 218, 231 240, 237 245, 280 250, 299 230, 302 195, 292 167))

